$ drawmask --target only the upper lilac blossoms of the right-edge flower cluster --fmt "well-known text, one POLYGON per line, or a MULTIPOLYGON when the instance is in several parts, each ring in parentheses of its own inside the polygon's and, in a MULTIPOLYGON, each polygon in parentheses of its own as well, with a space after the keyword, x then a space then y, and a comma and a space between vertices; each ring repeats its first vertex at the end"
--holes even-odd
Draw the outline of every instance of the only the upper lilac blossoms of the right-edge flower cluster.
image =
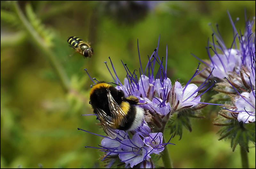
POLYGON ((255 17, 252 20, 246 21, 244 34, 241 33, 241 30, 238 32, 235 27, 235 22, 239 18, 236 18, 236 21, 233 22, 229 12, 228 17, 234 32, 234 39, 231 46, 227 47, 225 45, 218 25, 216 25, 217 32, 212 28, 212 42, 208 40, 206 47, 210 63, 194 56, 208 65, 208 71, 214 68, 212 72, 213 77, 217 77, 222 81, 224 81, 224 77, 230 77, 232 78, 230 81, 236 85, 252 90, 248 79, 250 77, 253 88, 255 89, 255 32, 252 31, 255 17), (214 38, 217 40, 215 41, 214 38), (212 46, 209 46, 210 44, 212 46), (213 56, 211 53, 213 53, 213 56))

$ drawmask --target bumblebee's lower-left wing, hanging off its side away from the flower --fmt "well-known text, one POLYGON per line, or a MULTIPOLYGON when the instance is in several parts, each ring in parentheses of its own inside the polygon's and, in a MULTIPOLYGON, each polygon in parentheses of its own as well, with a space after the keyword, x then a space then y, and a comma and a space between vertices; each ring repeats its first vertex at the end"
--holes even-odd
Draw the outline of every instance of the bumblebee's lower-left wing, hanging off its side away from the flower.
POLYGON ((108 116, 102 109, 96 109, 98 118, 100 120, 101 126, 105 133, 110 137, 115 139, 116 138, 116 130, 114 129, 115 123, 113 118, 108 116))

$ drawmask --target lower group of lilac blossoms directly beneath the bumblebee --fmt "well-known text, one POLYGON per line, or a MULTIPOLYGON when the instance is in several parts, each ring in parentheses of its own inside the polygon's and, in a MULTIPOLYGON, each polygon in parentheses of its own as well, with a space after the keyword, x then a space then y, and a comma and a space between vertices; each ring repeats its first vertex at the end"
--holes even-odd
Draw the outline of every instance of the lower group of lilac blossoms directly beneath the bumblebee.
MULTIPOLYGON (((89 131, 86 132, 101 136, 89 131)), ((159 154, 159 152, 164 150, 167 144, 172 144, 169 143, 172 137, 167 143, 163 143, 163 134, 152 133, 145 121, 143 121, 143 124, 136 130, 132 138, 122 130, 116 130, 116 133, 117 137, 115 139, 102 136, 104 138, 101 141, 101 145, 99 145, 100 147, 85 146, 86 148, 97 148, 100 149, 100 151, 104 151, 105 156, 102 157, 102 160, 110 159, 108 167, 111 167, 116 160, 124 162, 131 168, 138 164, 142 166, 144 166, 144 164, 146 166, 152 166, 152 161, 151 163, 144 162, 151 158, 150 154, 159 154), (114 161, 113 158, 116 160, 114 161)))

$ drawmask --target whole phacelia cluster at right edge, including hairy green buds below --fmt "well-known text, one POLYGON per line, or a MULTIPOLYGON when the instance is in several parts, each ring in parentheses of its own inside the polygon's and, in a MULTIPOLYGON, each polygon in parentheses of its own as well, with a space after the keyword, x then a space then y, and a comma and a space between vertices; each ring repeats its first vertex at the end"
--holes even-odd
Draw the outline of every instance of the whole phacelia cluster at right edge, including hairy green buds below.
POLYGON ((217 25, 217 32, 212 28, 212 42, 208 40, 206 47, 210 60, 202 62, 208 65, 208 71, 215 68, 212 77, 218 79, 214 89, 219 94, 213 97, 218 103, 225 104, 214 123, 224 126, 220 130, 220 139, 230 138, 233 151, 240 144, 247 146, 249 152, 248 142, 255 143, 255 32, 252 29, 255 17, 246 20, 244 34, 235 26, 239 18, 233 22, 229 12, 228 17, 234 34, 231 46, 225 45, 217 25))

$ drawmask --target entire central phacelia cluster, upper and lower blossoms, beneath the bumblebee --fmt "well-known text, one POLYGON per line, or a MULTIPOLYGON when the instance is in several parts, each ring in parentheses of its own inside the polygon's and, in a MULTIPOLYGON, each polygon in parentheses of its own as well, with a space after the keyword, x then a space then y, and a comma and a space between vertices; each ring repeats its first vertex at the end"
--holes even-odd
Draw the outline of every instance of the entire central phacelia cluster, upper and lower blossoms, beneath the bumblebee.
MULTIPOLYGON (((169 143, 170 140, 166 143, 163 142, 163 132, 166 124, 169 125, 168 127, 171 128, 171 132, 174 135, 180 135, 181 138, 182 125, 189 128, 189 130, 191 129, 188 117, 199 117, 195 111, 205 106, 205 103, 201 102, 201 96, 216 83, 216 81, 208 81, 212 74, 211 72, 199 87, 195 84, 190 84, 195 76, 205 70, 200 71, 200 63, 198 63, 194 75, 186 85, 182 85, 178 81, 172 85, 170 78, 167 77, 166 70, 167 47, 164 60, 164 57, 158 55, 158 45, 152 55, 148 56, 148 63, 144 70, 142 69, 139 52, 139 74, 137 74, 137 70, 130 71, 128 66, 122 62, 127 73, 124 83, 117 76, 110 57, 109 60, 114 74, 111 73, 107 62, 105 62, 114 83, 117 84, 116 89, 124 91, 126 96, 132 95, 137 97, 139 103, 142 103, 137 106, 144 108, 146 113, 141 126, 129 132, 129 135, 127 131, 116 130, 118 137, 115 139, 102 136, 104 138, 101 145, 99 145, 99 149, 105 152, 102 160, 108 160, 108 167, 113 166, 116 162, 123 162, 126 167, 140 166, 142 168, 153 168, 155 165, 151 161, 151 155, 159 155, 167 144, 171 144, 169 143), (201 92, 202 89, 204 92, 201 92), (181 127, 175 127, 177 126, 176 123, 182 124, 181 127)), ((85 70, 87 72, 87 69, 85 70)), ((97 81, 88 72, 87 74, 93 83, 97 81)))

